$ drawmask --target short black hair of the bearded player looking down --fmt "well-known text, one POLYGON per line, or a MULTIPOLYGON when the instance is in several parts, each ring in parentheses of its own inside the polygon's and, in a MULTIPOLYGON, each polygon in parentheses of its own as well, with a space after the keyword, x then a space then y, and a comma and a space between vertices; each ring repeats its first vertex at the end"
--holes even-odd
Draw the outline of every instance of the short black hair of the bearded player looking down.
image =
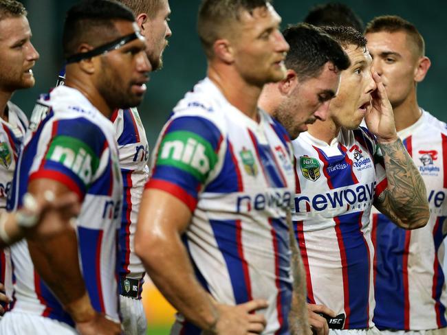
POLYGON ((338 71, 349 67, 349 57, 329 35, 313 25, 298 23, 283 31, 290 50, 285 57, 285 67, 296 72, 299 80, 316 78, 327 62, 338 71))

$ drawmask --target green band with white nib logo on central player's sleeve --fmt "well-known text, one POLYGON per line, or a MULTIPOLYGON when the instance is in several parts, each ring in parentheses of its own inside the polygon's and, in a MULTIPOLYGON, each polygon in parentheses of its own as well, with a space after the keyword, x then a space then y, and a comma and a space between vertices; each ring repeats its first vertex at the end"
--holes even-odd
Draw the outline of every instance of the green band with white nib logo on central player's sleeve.
POLYGON ((157 164, 171 165, 205 181, 217 161, 217 154, 203 137, 188 131, 173 131, 160 144, 157 164))

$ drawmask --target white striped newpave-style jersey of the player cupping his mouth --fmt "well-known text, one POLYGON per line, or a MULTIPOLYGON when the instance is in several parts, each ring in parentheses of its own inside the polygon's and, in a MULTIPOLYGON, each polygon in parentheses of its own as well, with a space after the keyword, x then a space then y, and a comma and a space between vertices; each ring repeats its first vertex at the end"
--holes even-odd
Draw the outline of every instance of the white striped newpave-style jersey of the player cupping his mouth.
POLYGON ((307 274, 307 300, 345 314, 344 329, 372 327, 373 245, 369 213, 386 188, 378 143, 365 128, 330 145, 304 132, 296 158, 292 214, 307 274))

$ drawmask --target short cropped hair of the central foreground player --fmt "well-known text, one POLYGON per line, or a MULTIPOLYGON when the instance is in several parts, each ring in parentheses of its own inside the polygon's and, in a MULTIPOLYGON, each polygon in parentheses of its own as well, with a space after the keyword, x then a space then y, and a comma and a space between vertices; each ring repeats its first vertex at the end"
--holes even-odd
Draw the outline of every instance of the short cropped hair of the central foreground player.
POLYGON ((250 14, 255 8, 267 7, 270 0, 202 0, 197 19, 197 30, 206 56, 212 58, 212 45, 222 38, 225 27, 239 21, 241 12, 250 14))

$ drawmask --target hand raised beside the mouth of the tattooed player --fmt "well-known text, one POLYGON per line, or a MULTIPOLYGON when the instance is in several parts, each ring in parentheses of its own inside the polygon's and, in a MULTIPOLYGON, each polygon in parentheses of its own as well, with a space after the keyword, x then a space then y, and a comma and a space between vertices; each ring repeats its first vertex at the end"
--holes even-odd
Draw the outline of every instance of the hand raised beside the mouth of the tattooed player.
POLYGON ((382 79, 377 72, 371 69, 377 89, 371 94, 371 106, 364 117, 369 131, 378 137, 380 143, 391 143, 397 140, 394 124, 393 107, 386 95, 382 79))

